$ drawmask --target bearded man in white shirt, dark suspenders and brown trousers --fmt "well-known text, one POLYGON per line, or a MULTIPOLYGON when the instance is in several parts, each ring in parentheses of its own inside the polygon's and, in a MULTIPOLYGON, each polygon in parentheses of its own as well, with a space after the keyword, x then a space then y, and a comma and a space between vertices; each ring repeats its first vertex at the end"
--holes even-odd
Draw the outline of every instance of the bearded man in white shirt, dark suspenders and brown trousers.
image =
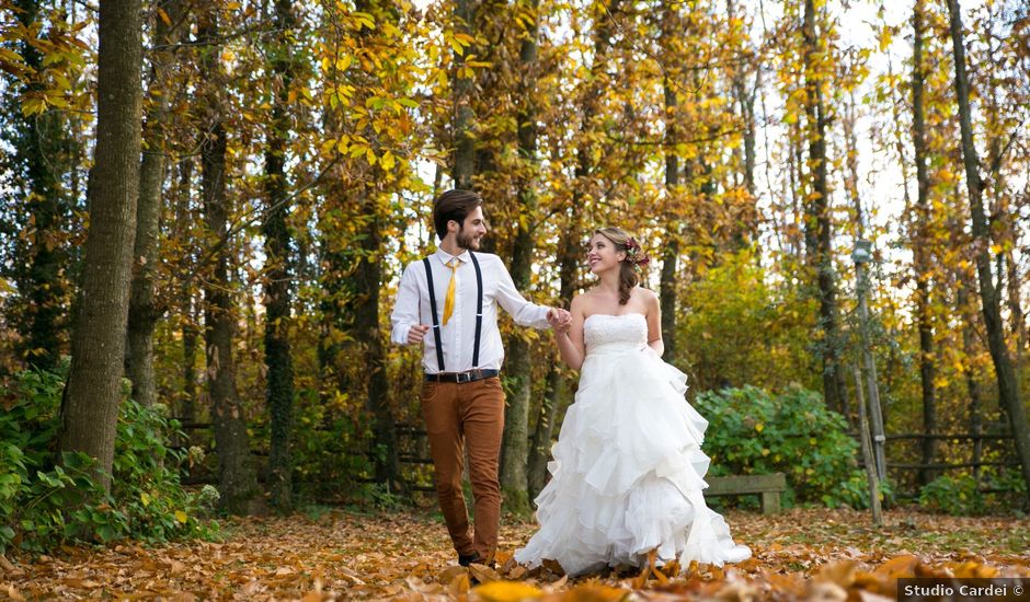
POLYGON ((522 326, 564 327, 571 321, 565 310, 526 301, 500 257, 473 253, 487 234, 482 204, 469 190, 448 190, 436 199, 438 248, 404 268, 390 319, 393 343, 423 345, 421 402, 436 494, 462 566, 492 562, 497 547, 497 464, 504 431, 497 305, 522 326), (461 490, 466 448, 476 500, 474 537, 469 537, 461 490))

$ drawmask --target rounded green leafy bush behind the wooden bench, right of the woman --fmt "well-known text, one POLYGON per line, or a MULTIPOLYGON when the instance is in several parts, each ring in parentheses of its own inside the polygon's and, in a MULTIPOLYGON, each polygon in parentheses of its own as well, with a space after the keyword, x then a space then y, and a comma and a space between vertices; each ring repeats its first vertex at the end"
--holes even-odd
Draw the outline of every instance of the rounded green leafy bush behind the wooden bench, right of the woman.
POLYGON ((772 395, 748 385, 701 393, 696 407, 709 420, 703 449, 713 476, 781 472, 788 501, 865 503, 858 443, 817 393, 792 386, 772 395))

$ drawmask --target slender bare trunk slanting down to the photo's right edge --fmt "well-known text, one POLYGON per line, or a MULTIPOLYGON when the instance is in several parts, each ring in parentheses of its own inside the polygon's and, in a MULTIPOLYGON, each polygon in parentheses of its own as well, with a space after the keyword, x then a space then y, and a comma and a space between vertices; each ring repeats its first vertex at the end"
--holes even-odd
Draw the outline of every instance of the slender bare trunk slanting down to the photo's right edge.
POLYGON ((1016 450, 1027 483, 1027 503, 1030 505, 1030 424, 1026 408, 1019 398, 1016 371, 1005 343, 1005 323, 998 291, 991 274, 989 227, 983 206, 983 184, 980 180, 980 159, 973 142, 973 124, 970 115, 969 79, 965 74, 965 48, 963 46, 962 15, 958 0, 948 0, 951 14, 951 42, 954 49, 954 86, 959 102, 959 125, 962 130, 962 161, 965 164, 965 185, 969 193, 970 213, 973 221, 973 244, 976 245, 976 273, 980 279, 980 298, 983 305, 987 344, 998 381, 998 397, 1007 410, 1016 450))

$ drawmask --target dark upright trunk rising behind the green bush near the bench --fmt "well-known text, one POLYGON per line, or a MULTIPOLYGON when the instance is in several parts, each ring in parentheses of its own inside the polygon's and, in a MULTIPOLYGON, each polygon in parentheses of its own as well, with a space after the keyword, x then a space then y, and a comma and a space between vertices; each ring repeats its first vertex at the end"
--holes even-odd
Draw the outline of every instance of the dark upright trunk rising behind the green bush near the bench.
POLYGON ((815 56, 820 43, 815 31, 815 1, 804 2, 804 72, 808 118, 809 165, 812 177, 811 200, 805 217, 805 227, 814 230, 815 256, 813 257, 819 283, 819 316, 823 332, 823 395, 826 405, 840 412, 844 407, 844 382, 839 366, 839 333, 837 327, 837 293, 833 269, 833 221, 829 213, 829 182, 826 174, 826 125, 823 105, 823 76, 817 72, 815 56))

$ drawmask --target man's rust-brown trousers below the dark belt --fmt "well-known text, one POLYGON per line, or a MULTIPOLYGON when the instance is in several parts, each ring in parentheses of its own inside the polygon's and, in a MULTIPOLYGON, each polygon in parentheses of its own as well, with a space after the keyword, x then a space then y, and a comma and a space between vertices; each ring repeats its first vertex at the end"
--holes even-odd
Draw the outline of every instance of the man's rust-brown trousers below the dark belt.
POLYGON ((501 483, 497 466, 504 432, 504 391, 496 377, 469 383, 424 382, 422 414, 436 471, 436 495, 455 549, 490 558, 497 548, 501 483), (465 448, 476 500, 476 536, 461 490, 465 448))

